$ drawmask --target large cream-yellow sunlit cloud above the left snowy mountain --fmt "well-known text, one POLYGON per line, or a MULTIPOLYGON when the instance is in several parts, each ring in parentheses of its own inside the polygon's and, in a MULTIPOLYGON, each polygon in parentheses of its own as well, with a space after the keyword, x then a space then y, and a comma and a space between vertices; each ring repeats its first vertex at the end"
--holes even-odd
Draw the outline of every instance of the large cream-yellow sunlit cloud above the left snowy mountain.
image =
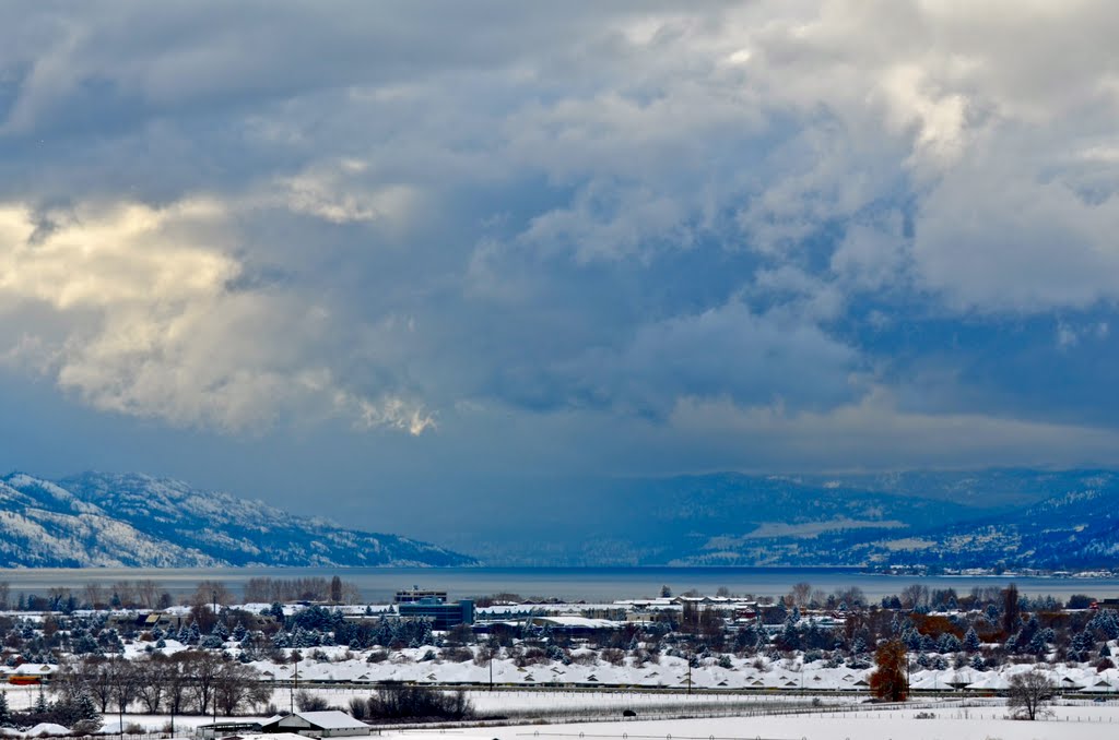
POLYGON ((91 203, 38 218, 47 226, 26 206, 0 207, 0 314, 51 312, 49 331, 10 338, 9 364, 34 362, 94 408, 179 426, 252 430, 323 406, 363 428, 432 426, 392 395, 369 400, 329 380, 317 357, 328 310, 235 287, 245 268, 229 256, 220 203, 91 203))

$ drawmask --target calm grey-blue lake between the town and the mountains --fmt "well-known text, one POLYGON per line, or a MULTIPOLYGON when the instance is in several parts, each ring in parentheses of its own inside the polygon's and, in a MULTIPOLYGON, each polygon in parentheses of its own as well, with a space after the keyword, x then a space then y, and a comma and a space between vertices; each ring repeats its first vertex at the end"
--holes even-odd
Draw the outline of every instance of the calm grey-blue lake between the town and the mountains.
POLYGON ((977 576, 884 576, 845 568, 86 568, 0 569, 0 582, 8 582, 12 599, 20 592, 45 595, 55 587, 81 589, 90 582, 109 585, 119 580, 151 579, 172 596, 192 592, 201 580, 222 581, 236 596, 250 578, 330 578, 338 575, 355 584, 373 603, 391 601, 393 594, 419 586, 449 592, 452 599, 508 591, 524 597, 558 597, 566 600, 612 601, 658 596, 661 586, 673 594, 698 589, 714 594, 726 587, 732 594, 781 596, 793 584, 807 581, 831 592, 857 586, 867 598, 899 594, 911 584, 932 588, 955 588, 963 595, 972 587, 1003 587, 1014 582, 1031 596, 1052 595, 1065 599, 1072 594, 1096 598, 1119 596, 1117 578, 1026 578, 977 576))

